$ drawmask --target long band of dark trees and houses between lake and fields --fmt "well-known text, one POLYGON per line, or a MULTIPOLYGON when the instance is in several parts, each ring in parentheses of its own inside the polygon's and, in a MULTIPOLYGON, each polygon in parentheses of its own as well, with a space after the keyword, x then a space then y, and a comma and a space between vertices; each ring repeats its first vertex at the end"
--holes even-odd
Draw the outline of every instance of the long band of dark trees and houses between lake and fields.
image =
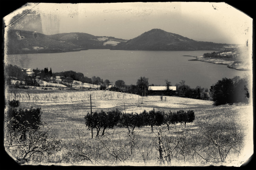
MULTIPOLYGON (((26 71, 22 70, 18 66, 13 66, 11 64, 7 65, 5 68, 6 72, 6 84, 14 84, 15 88, 19 88, 22 85, 26 86, 45 86, 40 84, 39 81, 58 83, 67 86, 67 88, 77 89, 78 85, 87 83, 94 84, 96 90, 110 90, 110 91, 122 91, 125 93, 133 93, 137 95, 147 96, 147 95, 161 95, 161 100, 164 96, 177 96, 186 97, 192 99, 201 100, 212 100, 216 105, 234 103, 234 102, 247 102, 250 97, 248 91, 248 81, 247 76, 241 78, 235 76, 233 79, 223 78, 211 86, 210 89, 202 88, 197 86, 196 88, 190 88, 190 86, 185 84, 185 80, 181 80, 176 83, 176 91, 169 90, 170 86, 173 86, 169 80, 165 80, 166 90, 161 91, 150 91, 148 86, 155 86, 154 84, 149 84, 148 78, 140 77, 137 79, 137 83, 126 85, 124 80, 117 80, 115 82, 110 82, 110 80, 103 80, 100 77, 93 76, 91 78, 86 77, 83 73, 76 73, 76 71, 63 71, 54 73, 52 68, 49 69, 33 69, 30 75, 26 71), (57 78, 58 77, 58 78, 57 78), (12 82, 15 83, 12 83, 12 82)), ((23 86, 26 88, 25 86, 23 86)), ((90 89, 84 88, 83 89, 90 89)))

